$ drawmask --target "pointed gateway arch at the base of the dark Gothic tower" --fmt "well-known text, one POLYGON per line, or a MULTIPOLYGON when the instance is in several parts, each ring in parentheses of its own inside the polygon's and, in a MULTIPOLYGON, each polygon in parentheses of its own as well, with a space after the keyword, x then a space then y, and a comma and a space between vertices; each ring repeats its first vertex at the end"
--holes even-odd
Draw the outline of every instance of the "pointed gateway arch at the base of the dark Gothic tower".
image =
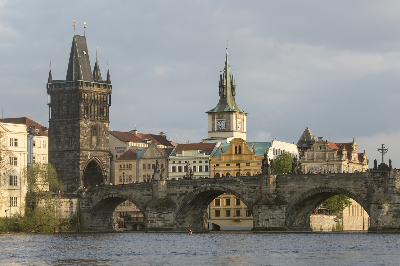
POLYGON ((103 163, 97 157, 93 157, 86 163, 82 179, 84 187, 108 185, 106 170, 103 163))

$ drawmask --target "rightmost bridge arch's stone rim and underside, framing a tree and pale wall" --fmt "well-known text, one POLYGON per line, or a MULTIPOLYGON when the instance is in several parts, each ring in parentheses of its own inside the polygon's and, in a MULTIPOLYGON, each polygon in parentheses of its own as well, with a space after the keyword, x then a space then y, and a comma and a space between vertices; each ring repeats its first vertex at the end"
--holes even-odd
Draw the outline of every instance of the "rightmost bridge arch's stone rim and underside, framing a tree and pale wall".
POLYGON ((325 200, 338 194, 355 200, 370 215, 369 204, 353 192, 342 188, 315 187, 305 191, 288 204, 286 226, 288 228, 309 228, 312 211, 325 200))

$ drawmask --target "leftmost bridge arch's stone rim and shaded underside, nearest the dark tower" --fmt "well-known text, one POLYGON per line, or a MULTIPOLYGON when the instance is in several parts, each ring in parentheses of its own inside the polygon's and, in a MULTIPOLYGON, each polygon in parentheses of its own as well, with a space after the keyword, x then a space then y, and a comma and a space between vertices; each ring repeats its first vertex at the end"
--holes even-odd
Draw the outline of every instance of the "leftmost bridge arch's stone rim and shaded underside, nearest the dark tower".
POLYGON ((119 192, 106 193, 92 199, 91 210, 93 228, 96 230, 106 230, 111 215, 117 206, 126 200, 135 204, 145 217, 142 204, 129 195, 119 192))

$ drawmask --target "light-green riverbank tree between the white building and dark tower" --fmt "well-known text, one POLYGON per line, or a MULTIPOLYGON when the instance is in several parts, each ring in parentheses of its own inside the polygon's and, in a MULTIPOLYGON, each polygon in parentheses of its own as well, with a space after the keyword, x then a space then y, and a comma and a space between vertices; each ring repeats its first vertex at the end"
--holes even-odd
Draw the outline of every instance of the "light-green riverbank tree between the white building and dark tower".
POLYGON ((53 193, 64 188, 57 179, 56 169, 51 164, 34 163, 23 170, 30 190, 31 204, 25 208, 25 216, 19 216, 18 224, 26 232, 52 232, 56 212, 53 193))

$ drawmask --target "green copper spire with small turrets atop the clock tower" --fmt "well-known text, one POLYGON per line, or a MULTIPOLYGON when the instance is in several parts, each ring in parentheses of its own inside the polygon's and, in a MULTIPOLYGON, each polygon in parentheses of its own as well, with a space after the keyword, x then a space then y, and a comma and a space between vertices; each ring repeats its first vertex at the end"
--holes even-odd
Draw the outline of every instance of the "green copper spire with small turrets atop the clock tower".
MULTIPOLYGON (((230 65, 228 58, 228 47, 226 47, 226 59, 225 59, 225 67, 223 74, 220 74, 220 82, 219 82, 219 95, 220 101, 217 106, 211 109, 206 113, 216 113, 216 112, 240 112, 246 113, 236 104, 235 101, 235 93, 233 86, 236 86, 234 76, 230 75, 230 65), (232 80, 232 82, 231 82, 232 80)), ((246 113, 247 114, 247 113, 246 113)))

